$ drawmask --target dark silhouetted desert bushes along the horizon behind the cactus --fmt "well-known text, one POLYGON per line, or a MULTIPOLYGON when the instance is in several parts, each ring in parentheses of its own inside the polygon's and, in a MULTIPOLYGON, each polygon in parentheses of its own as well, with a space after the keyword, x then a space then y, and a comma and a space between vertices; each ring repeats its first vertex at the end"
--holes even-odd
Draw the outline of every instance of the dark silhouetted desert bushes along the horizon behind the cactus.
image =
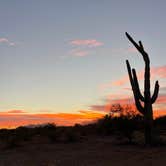
MULTIPOLYGON (((110 113, 96 122, 86 125, 56 126, 45 124, 34 127, 1 129, 0 144, 4 148, 15 148, 26 143, 75 143, 86 141, 90 137, 114 138, 115 143, 143 144, 144 118, 130 106, 113 105, 110 113), (115 116, 116 115, 116 116, 115 116)), ((166 140, 166 116, 154 120, 156 145, 166 140)))

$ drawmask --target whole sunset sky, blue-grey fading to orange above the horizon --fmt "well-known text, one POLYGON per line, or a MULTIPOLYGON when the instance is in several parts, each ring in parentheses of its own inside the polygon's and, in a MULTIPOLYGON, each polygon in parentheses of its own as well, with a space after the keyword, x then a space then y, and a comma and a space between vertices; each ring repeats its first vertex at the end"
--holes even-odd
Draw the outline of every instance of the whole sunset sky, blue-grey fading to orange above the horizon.
POLYGON ((141 40, 166 113, 165 0, 0 0, 0 127, 86 122, 133 102, 125 60, 143 91, 141 40))

